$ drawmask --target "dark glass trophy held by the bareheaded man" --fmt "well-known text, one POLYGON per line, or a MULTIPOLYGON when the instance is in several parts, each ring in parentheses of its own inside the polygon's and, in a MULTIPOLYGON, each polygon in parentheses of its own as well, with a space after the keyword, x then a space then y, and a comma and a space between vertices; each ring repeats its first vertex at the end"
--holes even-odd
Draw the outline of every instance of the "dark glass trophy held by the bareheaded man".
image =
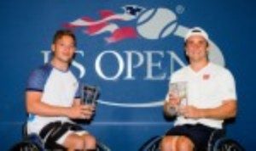
POLYGON ((97 87, 83 85, 81 99, 84 104, 96 105, 96 100, 99 97, 99 90, 97 87))

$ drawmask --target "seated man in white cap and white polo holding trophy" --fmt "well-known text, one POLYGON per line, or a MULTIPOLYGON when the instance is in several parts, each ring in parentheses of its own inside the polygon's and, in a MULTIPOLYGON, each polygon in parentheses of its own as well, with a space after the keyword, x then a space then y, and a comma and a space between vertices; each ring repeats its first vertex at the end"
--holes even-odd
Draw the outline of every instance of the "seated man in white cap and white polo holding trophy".
POLYGON ((208 59, 210 40, 200 27, 184 37, 189 65, 174 72, 164 112, 175 117, 174 127, 160 142, 162 151, 206 151, 212 132, 236 116, 236 87, 229 70, 208 59))

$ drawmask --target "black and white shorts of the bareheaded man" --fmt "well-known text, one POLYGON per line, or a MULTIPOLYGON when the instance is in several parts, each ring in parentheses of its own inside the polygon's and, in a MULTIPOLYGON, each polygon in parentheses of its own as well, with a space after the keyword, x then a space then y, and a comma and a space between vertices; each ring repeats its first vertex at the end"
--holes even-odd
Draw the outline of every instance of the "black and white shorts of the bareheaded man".
POLYGON ((83 127, 69 122, 55 121, 44 126, 39 133, 39 136, 44 140, 46 148, 55 148, 62 145, 71 133, 76 133, 80 136, 88 134, 83 127))

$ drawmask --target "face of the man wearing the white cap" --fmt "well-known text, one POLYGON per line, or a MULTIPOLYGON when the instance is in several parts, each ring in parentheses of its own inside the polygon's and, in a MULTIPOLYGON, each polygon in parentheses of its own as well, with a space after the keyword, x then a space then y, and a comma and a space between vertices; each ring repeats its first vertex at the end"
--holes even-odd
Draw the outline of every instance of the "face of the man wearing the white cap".
POLYGON ((207 60, 207 40, 203 36, 190 36, 185 50, 190 61, 207 60))

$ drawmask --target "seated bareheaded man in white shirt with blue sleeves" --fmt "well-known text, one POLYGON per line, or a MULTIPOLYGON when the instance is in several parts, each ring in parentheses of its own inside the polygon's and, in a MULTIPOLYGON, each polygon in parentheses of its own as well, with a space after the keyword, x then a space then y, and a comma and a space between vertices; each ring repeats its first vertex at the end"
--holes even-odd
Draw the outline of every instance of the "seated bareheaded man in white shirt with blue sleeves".
POLYGON ((94 105, 81 103, 79 81, 69 68, 76 48, 72 31, 56 31, 48 64, 34 70, 26 86, 27 133, 49 150, 95 150, 96 138, 73 122, 90 120, 94 105))

